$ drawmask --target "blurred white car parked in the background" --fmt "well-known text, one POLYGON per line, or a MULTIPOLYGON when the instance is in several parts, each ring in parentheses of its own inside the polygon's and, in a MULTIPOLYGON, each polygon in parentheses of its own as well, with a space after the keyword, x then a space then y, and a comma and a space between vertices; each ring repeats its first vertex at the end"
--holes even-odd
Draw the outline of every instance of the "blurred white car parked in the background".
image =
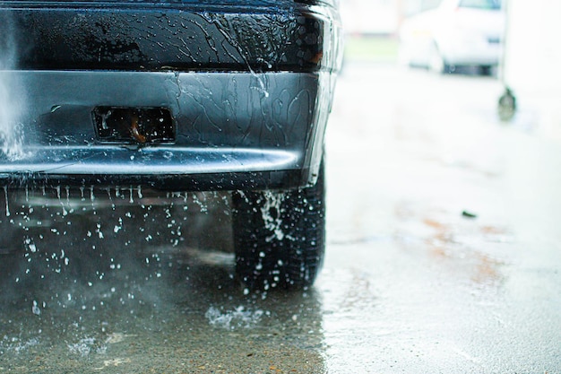
POLYGON ((501 57, 504 32, 501 0, 443 0, 402 22, 400 62, 439 73, 477 66, 490 74, 501 57))

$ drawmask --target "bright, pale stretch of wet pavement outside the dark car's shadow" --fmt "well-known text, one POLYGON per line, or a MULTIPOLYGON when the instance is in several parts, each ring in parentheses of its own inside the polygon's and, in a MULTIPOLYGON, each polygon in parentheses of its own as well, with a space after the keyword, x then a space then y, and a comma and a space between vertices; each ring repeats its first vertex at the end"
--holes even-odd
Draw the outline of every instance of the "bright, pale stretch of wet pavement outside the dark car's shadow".
POLYGON ((328 367, 559 372, 561 147, 539 115, 497 121, 491 78, 350 70, 345 87, 319 283, 328 367))

